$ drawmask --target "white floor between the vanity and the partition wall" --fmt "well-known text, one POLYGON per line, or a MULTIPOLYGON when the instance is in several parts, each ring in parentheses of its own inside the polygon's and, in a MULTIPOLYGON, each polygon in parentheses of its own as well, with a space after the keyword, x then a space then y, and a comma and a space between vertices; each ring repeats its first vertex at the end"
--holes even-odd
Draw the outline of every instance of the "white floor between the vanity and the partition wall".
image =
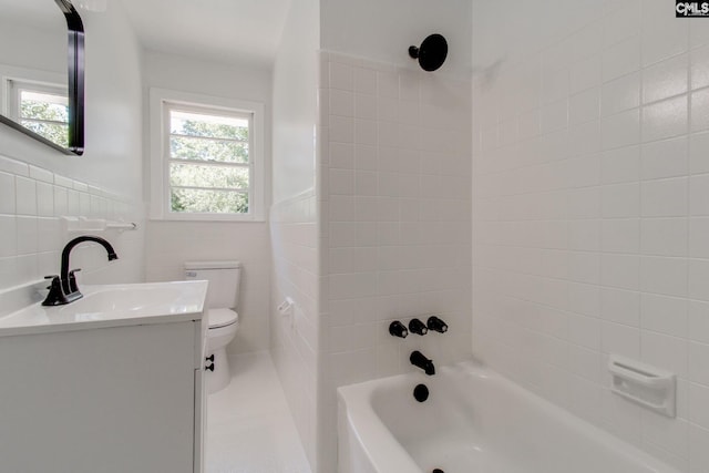
POLYGON ((311 473, 268 352, 239 356, 207 400, 206 473, 311 473))

